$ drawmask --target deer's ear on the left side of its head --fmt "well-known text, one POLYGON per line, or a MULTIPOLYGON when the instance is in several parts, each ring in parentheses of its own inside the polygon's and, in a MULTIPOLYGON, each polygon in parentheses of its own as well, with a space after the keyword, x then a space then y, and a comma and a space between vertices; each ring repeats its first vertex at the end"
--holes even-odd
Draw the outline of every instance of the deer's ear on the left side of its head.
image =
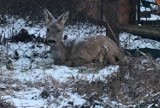
POLYGON ((52 16, 52 14, 48 11, 48 9, 44 9, 44 18, 45 18, 47 24, 50 24, 56 20, 52 16))

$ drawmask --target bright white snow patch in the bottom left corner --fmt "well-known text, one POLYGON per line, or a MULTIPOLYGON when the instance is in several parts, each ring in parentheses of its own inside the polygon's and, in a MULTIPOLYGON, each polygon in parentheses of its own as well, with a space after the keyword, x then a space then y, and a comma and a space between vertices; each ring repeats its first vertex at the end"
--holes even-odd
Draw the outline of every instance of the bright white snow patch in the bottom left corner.
POLYGON ((18 108, 40 108, 46 103, 44 99, 40 98, 40 93, 39 89, 30 88, 15 92, 13 95, 6 95, 3 98, 13 102, 18 108))

